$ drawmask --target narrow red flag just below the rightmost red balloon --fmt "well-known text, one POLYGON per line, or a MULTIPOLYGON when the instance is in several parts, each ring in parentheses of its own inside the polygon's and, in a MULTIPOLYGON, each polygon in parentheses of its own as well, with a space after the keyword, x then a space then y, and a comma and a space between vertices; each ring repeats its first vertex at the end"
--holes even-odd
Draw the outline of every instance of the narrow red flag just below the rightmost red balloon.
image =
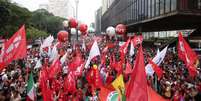
POLYGON ((127 40, 126 43, 124 43, 120 48, 119 48, 119 51, 120 51, 120 56, 121 56, 121 61, 123 61, 124 63, 124 57, 128 51, 128 45, 130 43, 130 38, 127 40))

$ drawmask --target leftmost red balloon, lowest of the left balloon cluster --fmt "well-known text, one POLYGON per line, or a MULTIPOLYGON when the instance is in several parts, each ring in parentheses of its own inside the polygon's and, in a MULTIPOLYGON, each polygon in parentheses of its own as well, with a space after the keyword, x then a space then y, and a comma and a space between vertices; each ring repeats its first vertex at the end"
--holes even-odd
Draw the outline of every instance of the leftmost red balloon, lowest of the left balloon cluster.
POLYGON ((60 42, 66 42, 68 40, 68 32, 66 31, 59 31, 57 34, 57 39, 60 42))

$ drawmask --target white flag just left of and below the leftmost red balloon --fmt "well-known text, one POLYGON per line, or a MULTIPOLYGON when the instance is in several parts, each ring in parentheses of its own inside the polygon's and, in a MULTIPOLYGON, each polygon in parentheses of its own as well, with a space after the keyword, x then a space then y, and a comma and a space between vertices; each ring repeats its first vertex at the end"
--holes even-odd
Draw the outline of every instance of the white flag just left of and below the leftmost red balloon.
POLYGON ((41 48, 49 47, 52 45, 52 42, 54 41, 54 37, 52 35, 49 35, 41 45, 41 48))

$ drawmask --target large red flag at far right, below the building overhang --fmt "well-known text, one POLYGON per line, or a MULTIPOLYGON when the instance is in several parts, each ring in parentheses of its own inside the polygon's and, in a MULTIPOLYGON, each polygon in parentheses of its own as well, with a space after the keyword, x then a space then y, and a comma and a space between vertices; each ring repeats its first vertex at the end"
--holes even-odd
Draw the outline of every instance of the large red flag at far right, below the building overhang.
POLYGON ((198 60, 198 57, 185 41, 181 32, 179 33, 178 40, 178 57, 186 64, 190 76, 194 77, 197 74, 195 63, 198 60))

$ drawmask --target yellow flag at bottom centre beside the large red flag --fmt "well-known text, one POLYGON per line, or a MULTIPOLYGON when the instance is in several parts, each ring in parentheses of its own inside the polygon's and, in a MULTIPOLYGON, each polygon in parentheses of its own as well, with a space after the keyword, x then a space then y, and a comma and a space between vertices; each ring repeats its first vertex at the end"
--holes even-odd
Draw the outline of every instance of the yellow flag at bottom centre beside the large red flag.
POLYGON ((113 82, 112 86, 115 88, 115 90, 118 92, 120 96, 125 94, 125 85, 123 80, 123 75, 119 75, 113 82))

